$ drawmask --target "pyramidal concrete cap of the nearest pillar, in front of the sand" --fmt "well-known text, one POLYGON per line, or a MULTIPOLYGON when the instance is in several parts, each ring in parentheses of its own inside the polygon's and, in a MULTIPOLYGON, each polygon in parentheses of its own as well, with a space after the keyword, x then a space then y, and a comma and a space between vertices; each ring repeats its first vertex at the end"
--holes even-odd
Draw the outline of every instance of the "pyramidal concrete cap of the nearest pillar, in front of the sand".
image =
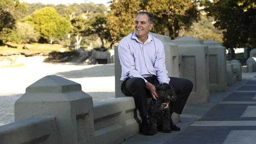
POLYGON ((61 93, 82 90, 79 83, 60 76, 45 76, 26 88, 27 92, 61 93))

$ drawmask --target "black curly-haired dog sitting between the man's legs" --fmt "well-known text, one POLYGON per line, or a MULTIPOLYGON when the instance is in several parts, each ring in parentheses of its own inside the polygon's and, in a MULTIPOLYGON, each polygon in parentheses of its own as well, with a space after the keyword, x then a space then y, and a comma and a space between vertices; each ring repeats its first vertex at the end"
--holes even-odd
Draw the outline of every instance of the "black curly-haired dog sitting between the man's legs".
POLYGON ((158 130, 163 131, 164 133, 171 133, 170 109, 169 107, 164 109, 165 105, 162 103, 175 101, 177 96, 173 88, 168 83, 155 85, 155 87, 158 94, 158 99, 154 100, 152 98, 148 109, 148 115, 152 122, 153 131, 155 134, 158 130))

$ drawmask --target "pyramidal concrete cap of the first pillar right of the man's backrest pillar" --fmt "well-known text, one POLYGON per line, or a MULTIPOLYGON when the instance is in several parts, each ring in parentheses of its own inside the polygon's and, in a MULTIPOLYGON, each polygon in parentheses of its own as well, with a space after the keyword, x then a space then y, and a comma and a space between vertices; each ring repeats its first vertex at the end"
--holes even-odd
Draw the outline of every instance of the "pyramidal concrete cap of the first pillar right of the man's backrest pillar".
POLYGON ((174 39, 171 42, 174 44, 203 44, 202 40, 192 37, 181 37, 179 39, 174 39))

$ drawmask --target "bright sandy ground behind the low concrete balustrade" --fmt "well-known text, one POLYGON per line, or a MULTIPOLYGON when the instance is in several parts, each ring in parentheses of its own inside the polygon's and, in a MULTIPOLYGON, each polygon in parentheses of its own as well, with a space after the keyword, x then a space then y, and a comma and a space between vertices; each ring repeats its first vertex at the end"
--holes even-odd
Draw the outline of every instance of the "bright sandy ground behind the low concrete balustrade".
POLYGON ((26 87, 48 75, 80 83, 93 102, 115 98, 114 64, 50 64, 42 61, 43 57, 28 57, 25 66, 0 68, 0 126, 14 122, 14 103, 25 93, 26 87))

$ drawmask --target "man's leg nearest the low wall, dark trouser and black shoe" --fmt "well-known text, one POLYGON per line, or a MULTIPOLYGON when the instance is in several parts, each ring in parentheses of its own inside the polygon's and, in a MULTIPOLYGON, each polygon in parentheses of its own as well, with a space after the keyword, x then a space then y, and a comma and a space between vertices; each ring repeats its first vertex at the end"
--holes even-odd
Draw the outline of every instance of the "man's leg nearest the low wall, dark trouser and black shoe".
POLYGON ((130 78, 121 85, 122 93, 126 96, 134 96, 135 106, 142 117, 143 135, 154 135, 152 123, 148 117, 147 88, 144 79, 130 78))

